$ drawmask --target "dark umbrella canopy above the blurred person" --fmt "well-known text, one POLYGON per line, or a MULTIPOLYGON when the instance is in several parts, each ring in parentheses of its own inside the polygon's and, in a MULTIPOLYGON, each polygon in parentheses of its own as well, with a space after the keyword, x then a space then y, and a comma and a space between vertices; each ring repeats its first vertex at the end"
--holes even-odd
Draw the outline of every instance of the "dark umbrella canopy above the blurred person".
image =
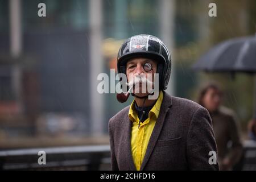
POLYGON ((200 57, 193 69, 209 72, 256 72, 256 34, 230 39, 200 57))

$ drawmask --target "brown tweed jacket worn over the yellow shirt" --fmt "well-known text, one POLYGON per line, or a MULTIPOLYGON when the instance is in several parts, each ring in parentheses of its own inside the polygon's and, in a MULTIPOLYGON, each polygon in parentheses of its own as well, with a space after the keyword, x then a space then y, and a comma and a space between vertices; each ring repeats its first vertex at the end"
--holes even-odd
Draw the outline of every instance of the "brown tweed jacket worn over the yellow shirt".
MULTIPOLYGON (((208 111, 196 102, 163 93, 141 170, 218 170, 213 159, 217 147, 208 111)), ((131 154, 129 107, 109 120, 112 170, 136 170, 131 154)))

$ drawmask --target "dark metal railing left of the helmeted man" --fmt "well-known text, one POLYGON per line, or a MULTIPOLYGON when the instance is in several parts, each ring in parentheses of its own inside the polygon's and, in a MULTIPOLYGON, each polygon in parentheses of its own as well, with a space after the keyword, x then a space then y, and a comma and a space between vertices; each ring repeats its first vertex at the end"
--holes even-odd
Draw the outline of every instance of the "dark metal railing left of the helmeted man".
POLYGON ((110 169, 109 145, 0 151, 0 169, 2 170, 100 170, 101 164, 105 164, 105 170, 110 169), (45 152, 46 164, 38 163, 42 156, 39 155, 39 151, 45 152))

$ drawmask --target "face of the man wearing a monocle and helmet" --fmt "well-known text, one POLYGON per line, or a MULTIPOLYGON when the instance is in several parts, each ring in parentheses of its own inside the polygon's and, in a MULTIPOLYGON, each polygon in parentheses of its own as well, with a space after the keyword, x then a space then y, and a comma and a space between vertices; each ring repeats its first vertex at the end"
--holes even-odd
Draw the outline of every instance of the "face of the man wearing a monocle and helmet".
MULTIPOLYGON (((146 58, 134 58, 127 62, 126 64, 126 75, 128 82, 134 80, 135 77, 141 76, 146 77, 147 80, 154 82, 154 73, 156 73, 157 63, 154 60, 146 59, 146 58), (152 67, 150 70, 150 66, 152 67)), ((143 93, 142 84, 137 84, 135 86, 133 93, 135 93, 139 97, 147 96, 148 90, 146 89, 146 93, 143 93)))

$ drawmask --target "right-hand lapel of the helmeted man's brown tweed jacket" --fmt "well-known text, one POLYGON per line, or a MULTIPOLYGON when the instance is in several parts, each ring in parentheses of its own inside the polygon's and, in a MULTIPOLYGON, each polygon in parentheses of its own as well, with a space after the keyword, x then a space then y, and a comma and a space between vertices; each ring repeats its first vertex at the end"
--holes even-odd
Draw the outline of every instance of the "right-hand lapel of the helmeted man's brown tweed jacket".
POLYGON ((155 127, 154 127, 154 130, 152 131, 150 140, 148 142, 147 151, 146 151, 146 154, 144 156, 144 159, 143 159, 143 162, 141 165, 141 171, 146 166, 146 163, 148 162, 148 159, 150 158, 150 155, 155 147, 155 144, 156 144, 158 137, 160 135, 160 132, 162 130, 164 118, 166 117, 166 113, 172 105, 171 96, 166 94, 166 92, 163 92, 163 93, 164 93, 164 97, 163 97, 162 105, 160 107, 160 113, 159 113, 158 119, 156 120, 155 127))

